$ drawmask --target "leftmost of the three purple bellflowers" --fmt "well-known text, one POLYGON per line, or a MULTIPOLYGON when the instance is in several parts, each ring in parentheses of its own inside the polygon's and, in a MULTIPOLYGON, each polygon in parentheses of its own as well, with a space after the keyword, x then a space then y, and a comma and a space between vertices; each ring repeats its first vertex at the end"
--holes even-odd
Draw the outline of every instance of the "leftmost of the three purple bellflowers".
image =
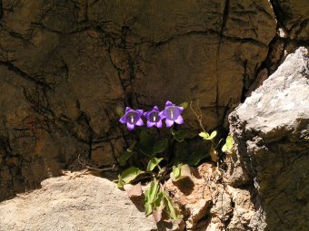
POLYGON ((143 110, 133 110, 129 107, 125 109, 125 115, 120 118, 121 123, 126 123, 128 130, 134 130, 136 126, 143 126, 144 121, 142 120, 143 110))

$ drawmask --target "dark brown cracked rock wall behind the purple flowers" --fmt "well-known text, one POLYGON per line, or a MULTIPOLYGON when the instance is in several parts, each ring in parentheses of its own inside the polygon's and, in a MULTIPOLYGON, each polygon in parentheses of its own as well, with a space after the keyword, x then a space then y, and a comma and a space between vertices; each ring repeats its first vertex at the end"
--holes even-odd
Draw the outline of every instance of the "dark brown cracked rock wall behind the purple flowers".
POLYGON ((207 130, 227 127, 261 65, 305 43, 308 7, 295 2, 0 1, 0 200, 78 155, 114 164, 129 137, 117 105, 198 99, 207 130))

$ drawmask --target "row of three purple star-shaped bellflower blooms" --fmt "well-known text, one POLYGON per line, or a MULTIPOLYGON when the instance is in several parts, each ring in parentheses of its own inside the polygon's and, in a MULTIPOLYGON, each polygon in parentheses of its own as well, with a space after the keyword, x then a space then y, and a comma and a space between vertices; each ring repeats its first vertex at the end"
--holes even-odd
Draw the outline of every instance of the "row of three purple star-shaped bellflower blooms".
POLYGON ((162 128, 162 120, 165 120, 167 128, 170 128, 174 122, 177 124, 184 123, 181 113, 184 111, 183 107, 174 105, 171 101, 166 101, 164 111, 159 111, 157 106, 154 106, 152 111, 133 110, 129 107, 125 109, 125 115, 120 118, 121 123, 126 123, 128 130, 134 130, 135 126, 143 126, 144 120, 147 120, 147 127, 155 126, 158 129, 162 128))

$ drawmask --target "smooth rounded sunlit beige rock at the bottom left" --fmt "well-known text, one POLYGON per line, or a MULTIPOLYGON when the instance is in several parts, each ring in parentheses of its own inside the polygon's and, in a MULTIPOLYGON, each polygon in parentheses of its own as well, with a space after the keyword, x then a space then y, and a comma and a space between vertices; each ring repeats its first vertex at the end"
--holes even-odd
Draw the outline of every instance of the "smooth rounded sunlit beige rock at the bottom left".
POLYGON ((0 229, 157 230, 114 183, 78 174, 46 179, 41 189, 0 203, 0 229))

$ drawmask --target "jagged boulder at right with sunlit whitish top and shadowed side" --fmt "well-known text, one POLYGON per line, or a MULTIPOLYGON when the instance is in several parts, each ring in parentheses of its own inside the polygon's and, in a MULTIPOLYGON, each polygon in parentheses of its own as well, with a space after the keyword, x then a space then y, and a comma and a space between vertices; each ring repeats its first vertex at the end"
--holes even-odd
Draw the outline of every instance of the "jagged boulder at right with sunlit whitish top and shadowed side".
POLYGON ((229 120, 237 161, 230 169, 228 182, 251 192, 255 214, 248 224, 250 230, 306 230, 308 51, 300 47, 289 54, 229 120))

